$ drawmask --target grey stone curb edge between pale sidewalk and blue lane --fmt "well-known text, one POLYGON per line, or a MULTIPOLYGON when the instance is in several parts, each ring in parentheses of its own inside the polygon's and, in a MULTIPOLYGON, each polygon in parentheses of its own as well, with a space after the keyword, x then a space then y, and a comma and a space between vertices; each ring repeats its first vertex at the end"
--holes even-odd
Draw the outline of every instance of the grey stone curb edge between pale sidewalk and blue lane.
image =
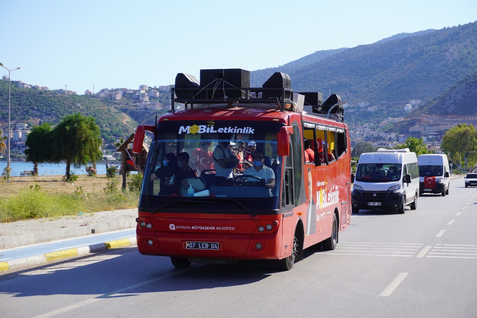
POLYGON ((131 219, 129 221, 117 221, 111 223, 73 227, 68 229, 59 229, 15 236, 5 236, 0 237, 0 250, 5 248, 58 241, 73 237, 81 237, 91 234, 132 229, 135 228, 136 225, 136 221, 134 219, 131 219))

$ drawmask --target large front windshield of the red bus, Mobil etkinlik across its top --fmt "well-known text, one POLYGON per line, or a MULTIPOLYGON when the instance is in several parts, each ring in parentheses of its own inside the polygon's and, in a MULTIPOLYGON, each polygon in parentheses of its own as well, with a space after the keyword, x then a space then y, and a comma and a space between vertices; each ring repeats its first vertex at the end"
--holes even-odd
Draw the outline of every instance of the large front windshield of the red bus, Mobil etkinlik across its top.
POLYGON ((202 213, 278 211, 281 159, 277 132, 281 126, 270 121, 161 121, 147 156, 139 208, 202 213), (237 158, 239 164, 230 162, 223 168, 217 160, 225 157, 237 158), (253 173, 254 161, 261 160, 259 170, 263 171, 253 173), (241 177, 245 175, 250 177, 241 177), (227 176, 220 178, 227 182, 218 182, 220 176, 227 176), (193 198, 187 197, 191 185, 193 198))

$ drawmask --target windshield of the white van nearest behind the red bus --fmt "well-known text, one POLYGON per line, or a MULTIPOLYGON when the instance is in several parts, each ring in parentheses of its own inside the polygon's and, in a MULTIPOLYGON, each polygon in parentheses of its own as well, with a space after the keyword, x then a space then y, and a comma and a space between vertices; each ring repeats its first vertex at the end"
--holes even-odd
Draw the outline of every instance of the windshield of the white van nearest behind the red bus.
POLYGON ((401 179, 401 165, 394 163, 364 163, 356 169, 355 180, 390 182, 401 179))

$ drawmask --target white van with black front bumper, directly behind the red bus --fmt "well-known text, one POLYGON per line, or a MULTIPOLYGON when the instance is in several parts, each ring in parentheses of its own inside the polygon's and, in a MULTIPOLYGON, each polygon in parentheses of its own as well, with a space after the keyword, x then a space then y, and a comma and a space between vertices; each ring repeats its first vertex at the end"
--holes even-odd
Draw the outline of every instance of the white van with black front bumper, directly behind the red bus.
POLYGON ((409 148, 363 153, 352 181, 352 213, 397 209, 403 214, 406 205, 417 208, 419 169, 416 154, 409 148))

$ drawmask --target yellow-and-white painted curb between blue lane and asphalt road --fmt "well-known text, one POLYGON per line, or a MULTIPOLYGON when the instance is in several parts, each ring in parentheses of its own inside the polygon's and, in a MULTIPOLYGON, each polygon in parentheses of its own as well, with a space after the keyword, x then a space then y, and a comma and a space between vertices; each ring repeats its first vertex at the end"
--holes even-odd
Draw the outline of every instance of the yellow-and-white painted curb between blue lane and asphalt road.
POLYGON ((106 249, 126 246, 136 244, 136 238, 131 237, 128 239, 115 240, 110 242, 98 243, 89 246, 83 246, 78 248, 70 248, 63 251, 46 253, 42 255, 36 255, 31 257, 14 259, 8 262, 0 262, 0 272, 4 272, 9 269, 19 269, 22 267, 35 267, 42 264, 47 264, 51 261, 57 261, 62 258, 72 257, 72 256, 83 256, 90 253, 95 253, 98 251, 103 251, 106 249))

